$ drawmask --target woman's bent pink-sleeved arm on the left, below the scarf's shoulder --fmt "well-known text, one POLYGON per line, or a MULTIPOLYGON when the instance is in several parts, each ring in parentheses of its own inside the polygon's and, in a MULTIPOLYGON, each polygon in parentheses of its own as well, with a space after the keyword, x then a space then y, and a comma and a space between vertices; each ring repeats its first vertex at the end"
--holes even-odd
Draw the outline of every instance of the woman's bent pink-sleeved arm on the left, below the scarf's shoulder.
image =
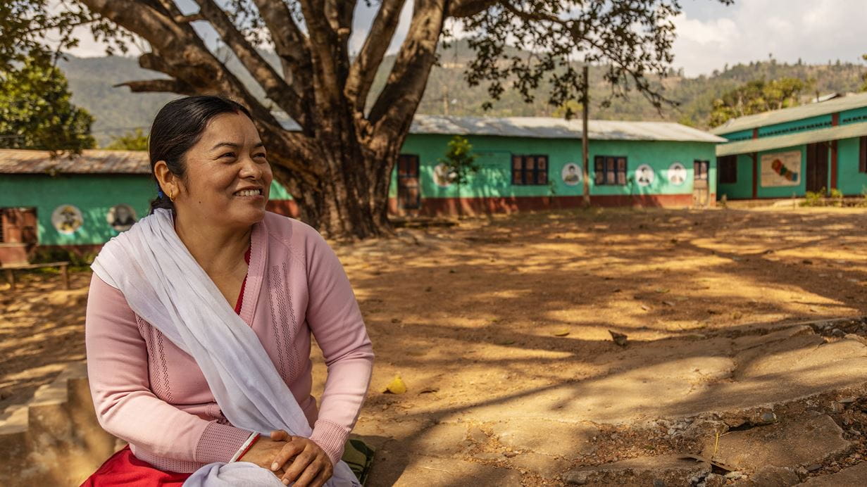
POLYGON ((94 274, 85 324, 88 380, 100 425, 159 457, 227 462, 250 432, 207 421, 156 397, 147 344, 120 290, 94 274))

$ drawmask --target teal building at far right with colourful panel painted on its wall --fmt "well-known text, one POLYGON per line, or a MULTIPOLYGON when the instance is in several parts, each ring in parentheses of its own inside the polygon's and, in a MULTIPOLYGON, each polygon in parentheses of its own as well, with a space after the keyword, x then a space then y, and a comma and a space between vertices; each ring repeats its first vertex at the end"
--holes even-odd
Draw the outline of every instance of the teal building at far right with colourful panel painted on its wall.
POLYGON ((712 133, 720 198, 867 192, 867 94, 729 120, 712 133))

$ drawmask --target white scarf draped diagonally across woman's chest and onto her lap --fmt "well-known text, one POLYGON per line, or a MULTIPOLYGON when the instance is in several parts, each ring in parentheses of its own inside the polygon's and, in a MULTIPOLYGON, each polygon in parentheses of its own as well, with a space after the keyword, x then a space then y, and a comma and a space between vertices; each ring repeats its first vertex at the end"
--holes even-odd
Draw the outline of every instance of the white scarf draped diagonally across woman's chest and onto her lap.
MULTIPOLYGON (((91 266, 127 298, 136 315, 152 324, 205 374, 217 404, 232 425, 268 435, 285 430, 310 438, 310 425, 253 330, 231 308, 174 231, 172 212, 155 210, 102 247, 91 266)), ((244 469, 207 464, 186 485, 237 485, 244 469), (220 473, 224 473, 223 478, 220 473)), ((276 476, 249 471, 246 485, 283 486, 276 476), (271 482, 270 480, 273 480, 271 482)), ((360 486, 339 461, 329 487, 360 486)))

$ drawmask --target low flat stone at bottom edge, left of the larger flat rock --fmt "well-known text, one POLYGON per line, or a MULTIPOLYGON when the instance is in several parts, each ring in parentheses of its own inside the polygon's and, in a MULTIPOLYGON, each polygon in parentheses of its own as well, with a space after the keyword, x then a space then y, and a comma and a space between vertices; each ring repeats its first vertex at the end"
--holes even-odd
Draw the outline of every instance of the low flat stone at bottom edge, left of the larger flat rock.
POLYGON ((696 461, 693 458, 662 455, 629 458, 611 464, 584 467, 570 471, 565 477, 567 482, 570 478, 577 478, 582 480, 583 484, 681 485, 684 478, 707 476, 710 468, 707 462, 696 461))

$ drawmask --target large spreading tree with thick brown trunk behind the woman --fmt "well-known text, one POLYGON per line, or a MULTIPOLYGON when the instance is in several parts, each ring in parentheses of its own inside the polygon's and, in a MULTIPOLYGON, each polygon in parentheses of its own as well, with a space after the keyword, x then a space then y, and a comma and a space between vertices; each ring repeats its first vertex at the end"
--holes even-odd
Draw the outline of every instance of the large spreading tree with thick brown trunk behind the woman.
POLYGON ((577 63, 591 62, 605 69, 612 95, 631 87, 657 106, 665 102, 645 75, 668 72, 678 0, 414 0, 407 35, 378 93, 371 93, 377 68, 406 0, 362 1, 376 13, 356 53, 349 37, 357 0, 192 0, 192 11, 175 0, 67 0, 60 13, 49 0, 11 0, 0 14, 5 9, 24 20, 0 21, 0 29, 23 38, 6 46, 10 52, 39 49, 42 26, 66 33, 90 23, 104 39, 144 39, 150 50, 140 65, 169 78, 126 85, 135 92, 227 94, 250 107, 277 179, 297 199, 302 218, 332 237, 387 231, 391 172, 449 19, 460 22, 476 52, 467 81, 488 83, 493 99, 512 83, 531 100, 547 78, 549 101, 564 105, 581 94, 577 63), (266 102, 209 49, 193 29, 198 22, 216 31, 266 102), (257 50, 260 42, 276 51, 278 68, 257 50), (531 54, 512 55, 508 46, 531 54), (285 130, 275 111, 300 130, 285 130))

